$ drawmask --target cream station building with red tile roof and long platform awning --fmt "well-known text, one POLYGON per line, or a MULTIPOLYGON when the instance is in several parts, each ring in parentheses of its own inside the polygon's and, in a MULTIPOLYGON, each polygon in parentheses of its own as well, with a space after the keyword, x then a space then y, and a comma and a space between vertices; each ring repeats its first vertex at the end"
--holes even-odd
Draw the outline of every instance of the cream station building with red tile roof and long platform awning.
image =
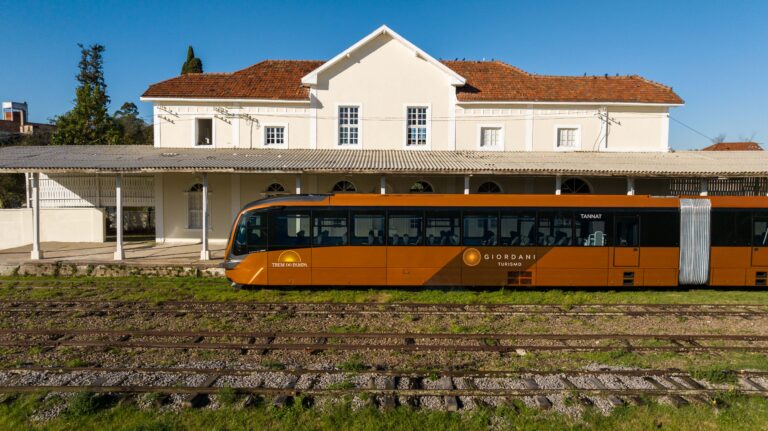
POLYGON ((669 86, 438 60, 386 26, 327 61, 186 74, 141 100, 154 147, 0 150, 0 172, 29 174, 33 242, 104 238, 135 211, 206 259, 244 204, 289 193, 768 193, 763 153, 670 151, 669 86))

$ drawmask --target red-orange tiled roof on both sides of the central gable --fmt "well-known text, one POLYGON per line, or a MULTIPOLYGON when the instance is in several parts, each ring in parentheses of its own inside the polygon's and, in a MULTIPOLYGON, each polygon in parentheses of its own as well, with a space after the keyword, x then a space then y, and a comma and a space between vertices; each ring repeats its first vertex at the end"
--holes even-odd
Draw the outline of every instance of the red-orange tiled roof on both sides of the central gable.
MULTIPOLYGON (((266 60, 234 73, 181 75, 144 97, 306 100, 301 78, 323 61, 266 60)), ((459 101, 683 103, 672 88, 640 76, 533 75, 500 61, 444 61, 466 78, 459 101)))

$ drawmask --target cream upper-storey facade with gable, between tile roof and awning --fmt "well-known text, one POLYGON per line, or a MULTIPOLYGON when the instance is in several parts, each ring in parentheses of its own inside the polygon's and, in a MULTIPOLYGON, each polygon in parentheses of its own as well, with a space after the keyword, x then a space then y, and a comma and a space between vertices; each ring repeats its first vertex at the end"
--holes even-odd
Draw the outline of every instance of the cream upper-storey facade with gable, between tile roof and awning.
MULTIPOLYGON (((197 145, 198 120, 211 120, 202 148, 668 151, 672 104, 486 101, 460 102, 463 78, 383 28, 305 77, 308 100, 153 98, 155 146, 197 145), (357 143, 339 138, 339 109, 357 108, 357 143), (407 145, 407 110, 426 109, 426 142, 407 145), (265 130, 281 127, 285 142, 269 145, 265 130), (481 144, 482 128, 504 139, 481 144), (576 129, 577 145, 559 147, 558 129, 576 129), (607 135, 607 136, 606 136, 607 135)), ((299 83, 297 82, 297 85, 299 83)))

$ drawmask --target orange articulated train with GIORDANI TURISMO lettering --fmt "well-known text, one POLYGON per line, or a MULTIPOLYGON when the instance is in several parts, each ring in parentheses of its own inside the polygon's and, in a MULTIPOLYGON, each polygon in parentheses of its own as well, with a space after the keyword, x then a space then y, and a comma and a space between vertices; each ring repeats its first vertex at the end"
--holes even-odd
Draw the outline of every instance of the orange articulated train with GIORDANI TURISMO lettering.
POLYGON ((224 267, 234 286, 766 286, 768 197, 266 198, 224 267))

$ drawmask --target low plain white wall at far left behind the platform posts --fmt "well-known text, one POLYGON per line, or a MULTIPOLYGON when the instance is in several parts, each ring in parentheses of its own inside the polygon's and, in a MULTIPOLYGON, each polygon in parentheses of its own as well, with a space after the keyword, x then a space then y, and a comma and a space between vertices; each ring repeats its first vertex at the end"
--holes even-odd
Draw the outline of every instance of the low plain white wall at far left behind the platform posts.
MULTIPOLYGON (((105 216, 96 208, 43 208, 40 241, 104 242, 105 216)), ((32 209, 0 210, 0 249, 32 244, 32 209)))

